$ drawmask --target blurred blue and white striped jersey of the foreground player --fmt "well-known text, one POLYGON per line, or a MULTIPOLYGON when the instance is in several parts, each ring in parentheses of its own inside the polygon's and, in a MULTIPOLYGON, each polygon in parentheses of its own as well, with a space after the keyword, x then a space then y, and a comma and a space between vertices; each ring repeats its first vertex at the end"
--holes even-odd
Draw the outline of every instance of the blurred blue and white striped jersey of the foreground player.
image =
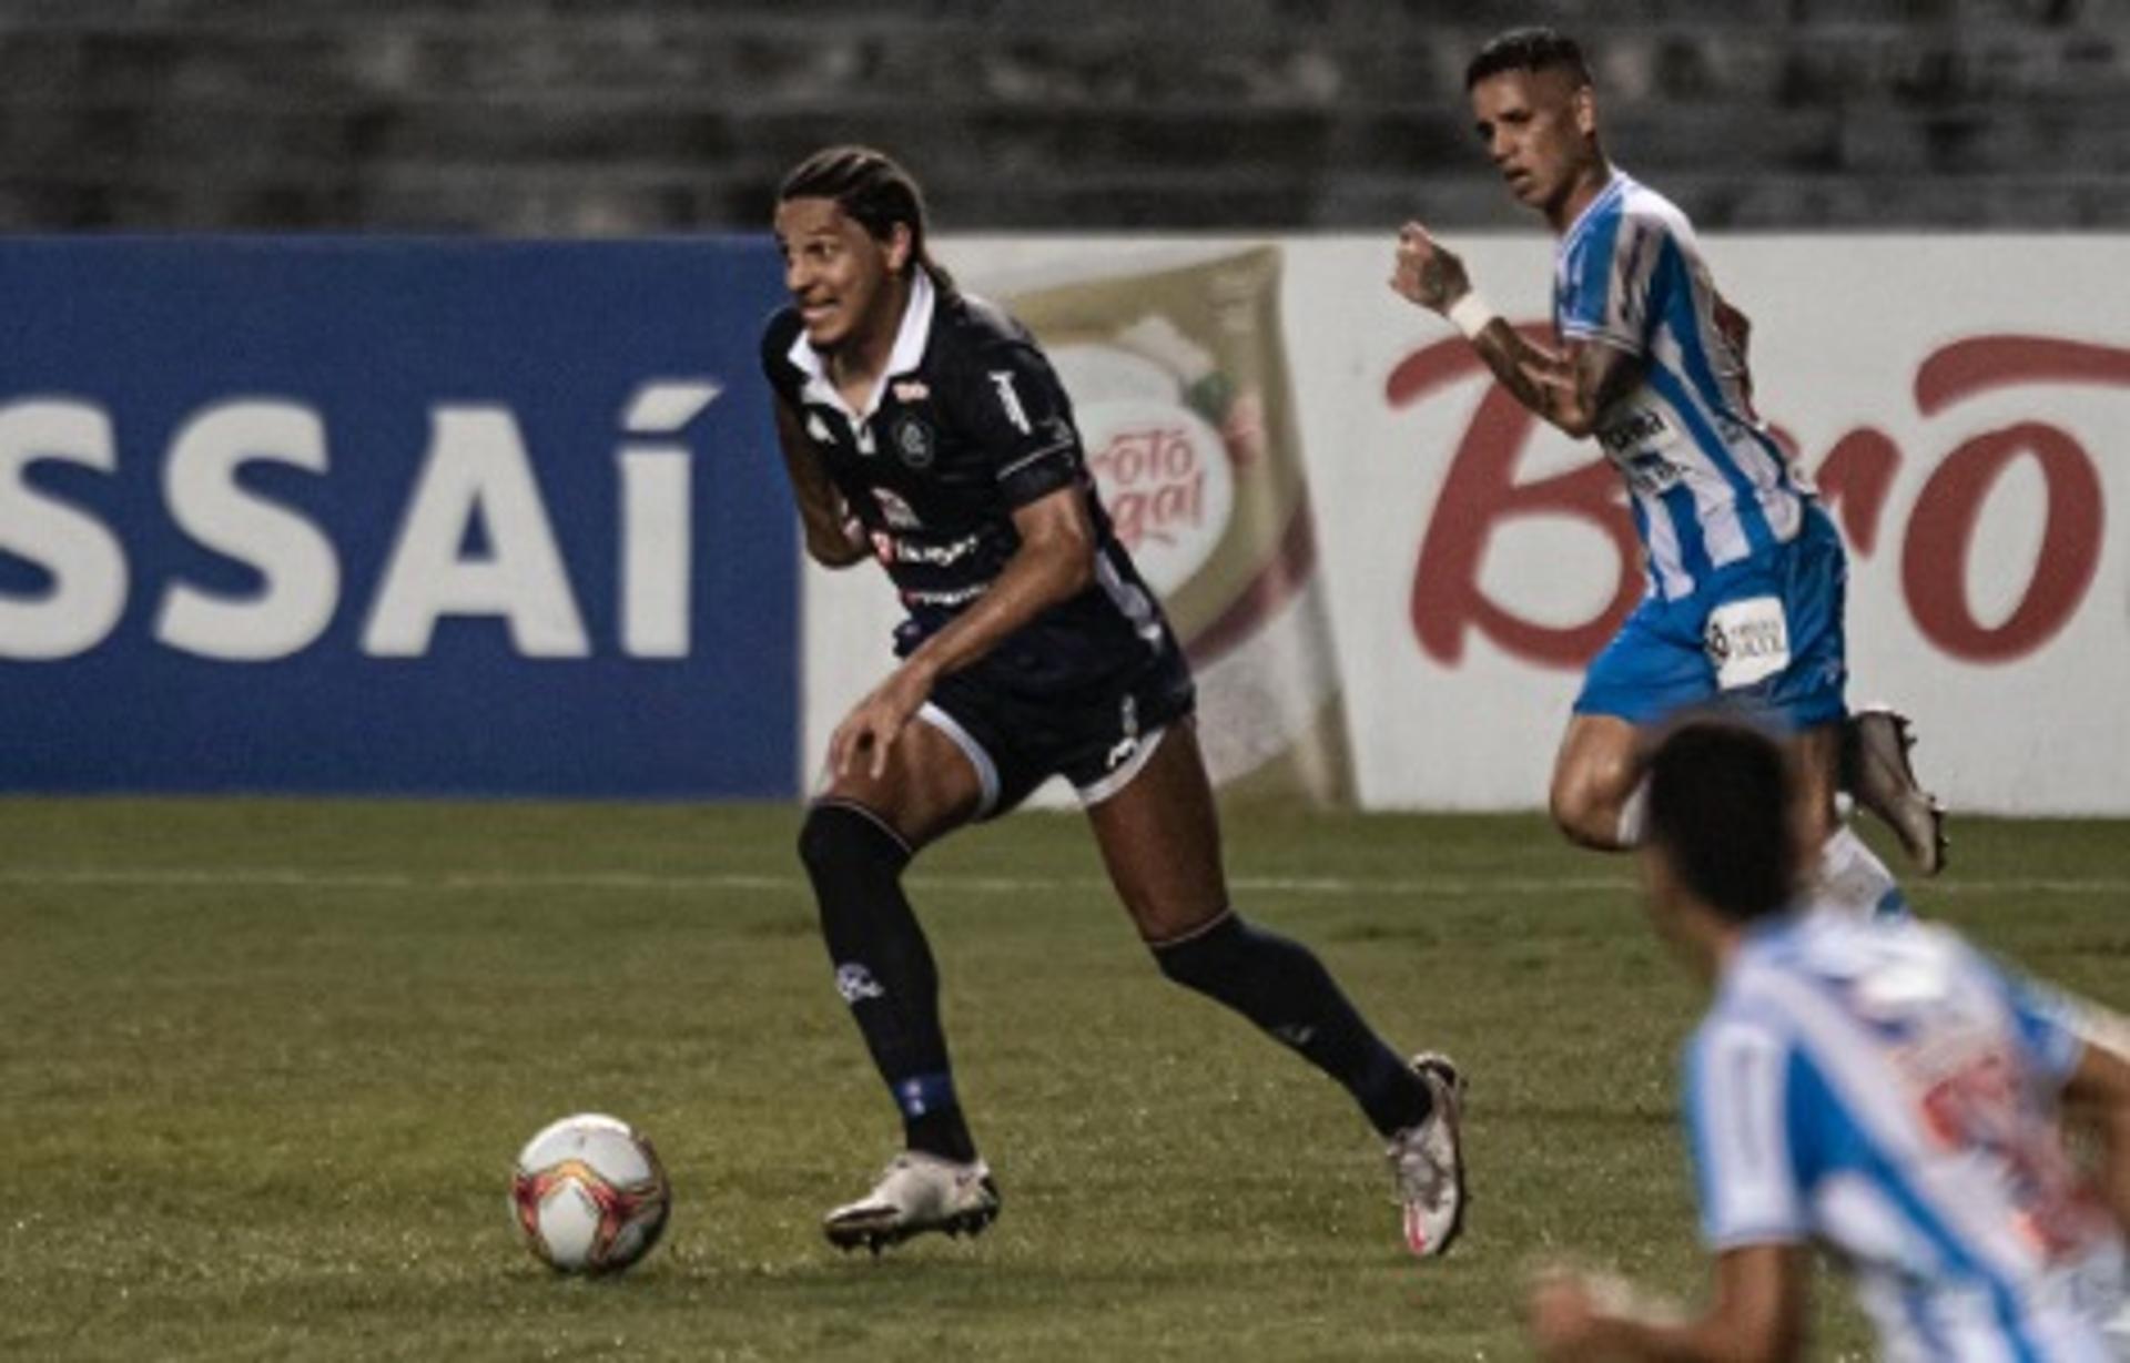
POLYGON ((2081 1046, 1947 929, 1759 926, 1687 1048, 1702 1235, 1830 1246, 1887 1359, 2117 1363, 2121 1237, 2058 1127, 2081 1046))

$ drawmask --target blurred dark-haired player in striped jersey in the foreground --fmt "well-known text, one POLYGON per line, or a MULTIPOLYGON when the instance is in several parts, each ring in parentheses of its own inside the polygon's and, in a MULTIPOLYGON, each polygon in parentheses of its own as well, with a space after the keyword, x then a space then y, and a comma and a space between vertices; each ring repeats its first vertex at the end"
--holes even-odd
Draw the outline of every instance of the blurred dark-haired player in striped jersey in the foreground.
POLYGON ((1715 1001, 1687 1124, 1715 1299, 1691 1320, 1551 1276, 1553 1359, 1789 1359, 1806 1242, 1855 1274, 1885 1359, 2130 1359, 2130 1052, 2121 1022, 1943 926, 1808 912, 1793 775, 1766 735, 1689 720, 1649 762, 1649 914, 1715 1001), (2098 1131, 2098 1182, 2060 1101, 2098 1131))

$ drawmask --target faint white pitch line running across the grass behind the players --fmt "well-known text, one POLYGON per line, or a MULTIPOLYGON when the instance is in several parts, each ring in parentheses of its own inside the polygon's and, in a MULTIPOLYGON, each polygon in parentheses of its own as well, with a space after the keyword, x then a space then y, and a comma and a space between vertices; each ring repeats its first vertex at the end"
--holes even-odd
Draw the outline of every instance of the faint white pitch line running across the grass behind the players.
MULTIPOLYGON (((285 890, 641 890, 694 894, 703 890, 771 890, 803 892, 803 875, 701 873, 658 875, 650 871, 307 871, 300 867, 17 867, 0 869, 6 886, 85 886, 85 888, 285 888, 285 890)), ((1629 877, 1600 875, 1463 875, 1463 877, 1380 877, 1353 880, 1338 875, 1235 875, 1231 888, 1244 894, 1301 894, 1321 899, 1365 897, 1442 897, 1472 894, 1610 894, 1629 892, 1629 877)), ((912 875, 918 892, 1027 894, 1039 890, 1108 892, 1099 877, 1027 877, 1027 875, 912 875)), ((1934 897, 1975 894, 2124 894, 2126 877, 2006 877, 1919 882, 1911 886, 1921 901, 1934 897)))

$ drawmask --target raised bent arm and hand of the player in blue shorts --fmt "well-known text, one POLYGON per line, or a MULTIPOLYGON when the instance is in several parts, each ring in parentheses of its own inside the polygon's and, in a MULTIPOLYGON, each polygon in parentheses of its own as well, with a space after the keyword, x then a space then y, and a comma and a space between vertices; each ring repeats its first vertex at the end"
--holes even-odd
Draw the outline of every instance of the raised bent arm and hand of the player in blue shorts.
MULTIPOLYGON (((1416 221, 1408 221, 1397 234, 1391 288, 1444 317, 1472 296, 1463 260, 1416 221)), ((1580 341, 1553 351, 1502 317, 1472 336, 1472 349, 1519 403, 1576 439, 1591 434, 1598 415, 1632 392, 1642 375, 1642 362, 1629 351, 1580 341)))

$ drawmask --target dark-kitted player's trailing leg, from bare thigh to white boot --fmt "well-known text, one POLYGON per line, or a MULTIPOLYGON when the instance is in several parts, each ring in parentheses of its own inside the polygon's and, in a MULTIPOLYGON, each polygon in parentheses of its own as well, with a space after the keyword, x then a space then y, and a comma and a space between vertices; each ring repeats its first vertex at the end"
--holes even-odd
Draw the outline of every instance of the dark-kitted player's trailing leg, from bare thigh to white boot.
POLYGON ((1406 1065, 1299 941, 1227 907, 1212 788, 1189 724, 1088 818, 1118 897, 1161 973, 1240 1012, 1353 1095, 1384 1137, 1406 1246, 1440 1254, 1463 1222, 1461 1078, 1440 1056, 1406 1065))

